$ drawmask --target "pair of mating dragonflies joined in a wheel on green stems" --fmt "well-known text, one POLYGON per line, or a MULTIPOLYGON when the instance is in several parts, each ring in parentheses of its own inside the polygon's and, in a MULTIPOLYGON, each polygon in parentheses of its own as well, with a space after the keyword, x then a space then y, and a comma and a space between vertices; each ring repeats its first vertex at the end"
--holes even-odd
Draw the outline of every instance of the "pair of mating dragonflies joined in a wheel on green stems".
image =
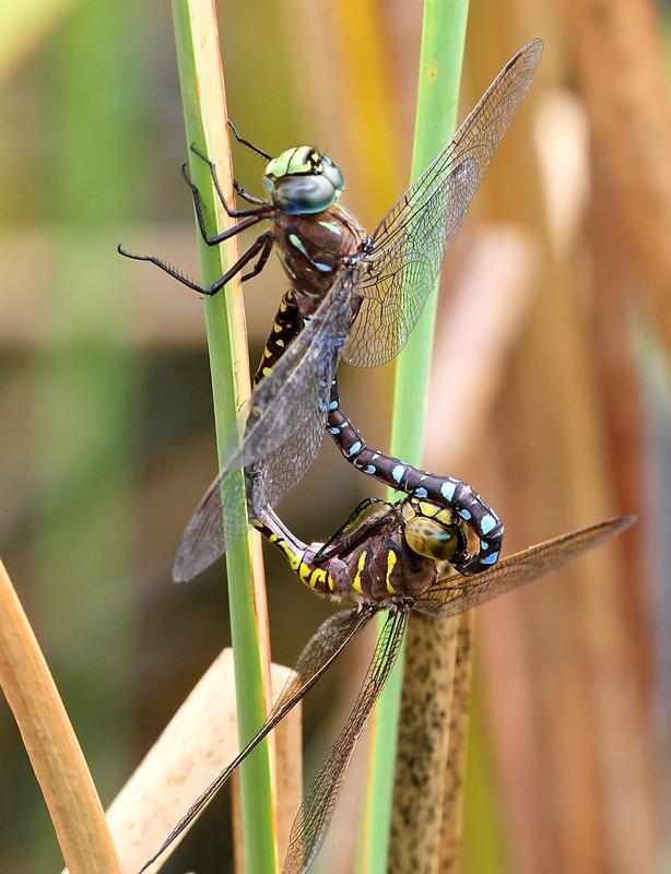
MULTIPOLYGON (((565 534, 498 562, 504 527, 468 484, 422 471, 370 449, 340 405, 341 357, 376 366, 403 347, 435 287, 496 147, 529 88, 542 44, 525 46, 506 64, 451 142, 379 223, 372 236, 337 205, 344 188, 340 169, 310 146, 273 158, 239 135, 269 163, 270 200, 235 189, 249 209, 231 209, 210 163, 212 181, 232 229, 210 236, 198 189, 191 189, 200 231, 209 245, 269 220, 238 261, 210 287, 187 280, 166 262, 148 260, 201 294, 215 294, 255 261, 246 281, 276 247, 291 290, 280 304, 242 438, 196 510, 174 565, 176 580, 196 576, 242 536, 249 521, 282 550, 299 579, 321 595, 350 604, 329 618, 304 648, 268 721, 195 802, 144 871, 187 828, 256 745, 286 716, 333 663, 345 645, 387 611, 354 709, 306 793, 294 822, 283 872, 307 870, 326 836, 354 744, 393 666, 408 615, 456 616, 517 586, 538 579, 582 551, 627 528, 621 518, 565 534), (370 476, 404 492, 400 504, 367 500, 326 543, 298 540, 275 512, 315 460, 325 430, 344 458, 370 476), (236 472, 245 470, 247 516, 233 511, 236 472)), ((208 158, 193 151, 202 160, 208 158)))

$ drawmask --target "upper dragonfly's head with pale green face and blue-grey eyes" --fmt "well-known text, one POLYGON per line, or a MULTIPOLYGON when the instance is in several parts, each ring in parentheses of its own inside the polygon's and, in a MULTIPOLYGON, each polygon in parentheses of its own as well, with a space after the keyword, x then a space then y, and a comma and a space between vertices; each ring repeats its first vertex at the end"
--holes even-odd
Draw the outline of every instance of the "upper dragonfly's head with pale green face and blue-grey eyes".
POLYGON ((273 158, 266 167, 263 184, 274 205, 291 215, 328 210, 345 187, 340 168, 311 145, 287 149, 273 158))

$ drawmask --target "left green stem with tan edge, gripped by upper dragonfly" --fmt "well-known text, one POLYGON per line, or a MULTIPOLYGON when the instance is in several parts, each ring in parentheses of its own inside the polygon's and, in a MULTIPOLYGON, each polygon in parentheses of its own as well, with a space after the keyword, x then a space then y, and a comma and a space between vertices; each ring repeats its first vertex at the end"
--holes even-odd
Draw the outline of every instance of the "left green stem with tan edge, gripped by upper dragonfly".
MULTIPOLYGON (((224 190, 231 197, 231 155, 214 4, 208 0, 173 0, 173 17, 187 143, 196 143, 216 162, 224 190)), ((217 213, 209 168, 192 153, 189 160, 191 178, 201 192, 211 229, 214 229, 215 217, 219 217, 217 229, 223 229, 229 220, 221 208, 217 213)), ((222 275, 234 256, 229 247, 208 247, 200 234, 198 239, 203 282, 209 285, 222 275)), ((207 298, 204 308, 216 445, 222 465, 226 438, 235 427, 239 402, 249 391, 239 284, 226 286, 224 292, 207 298)), ((243 473, 239 475, 237 491, 243 504, 239 509, 244 512, 243 473)), ((236 511, 235 507, 227 509, 236 511)), ((226 552, 240 743, 248 741, 262 725, 269 700, 267 653, 262 647, 267 634, 266 604, 259 593, 261 587, 255 583, 257 559, 258 544, 255 546, 250 539, 243 539, 226 552)), ((240 791, 245 870, 248 874, 272 874, 276 871, 275 814, 267 742, 260 744, 240 768, 240 791)))

